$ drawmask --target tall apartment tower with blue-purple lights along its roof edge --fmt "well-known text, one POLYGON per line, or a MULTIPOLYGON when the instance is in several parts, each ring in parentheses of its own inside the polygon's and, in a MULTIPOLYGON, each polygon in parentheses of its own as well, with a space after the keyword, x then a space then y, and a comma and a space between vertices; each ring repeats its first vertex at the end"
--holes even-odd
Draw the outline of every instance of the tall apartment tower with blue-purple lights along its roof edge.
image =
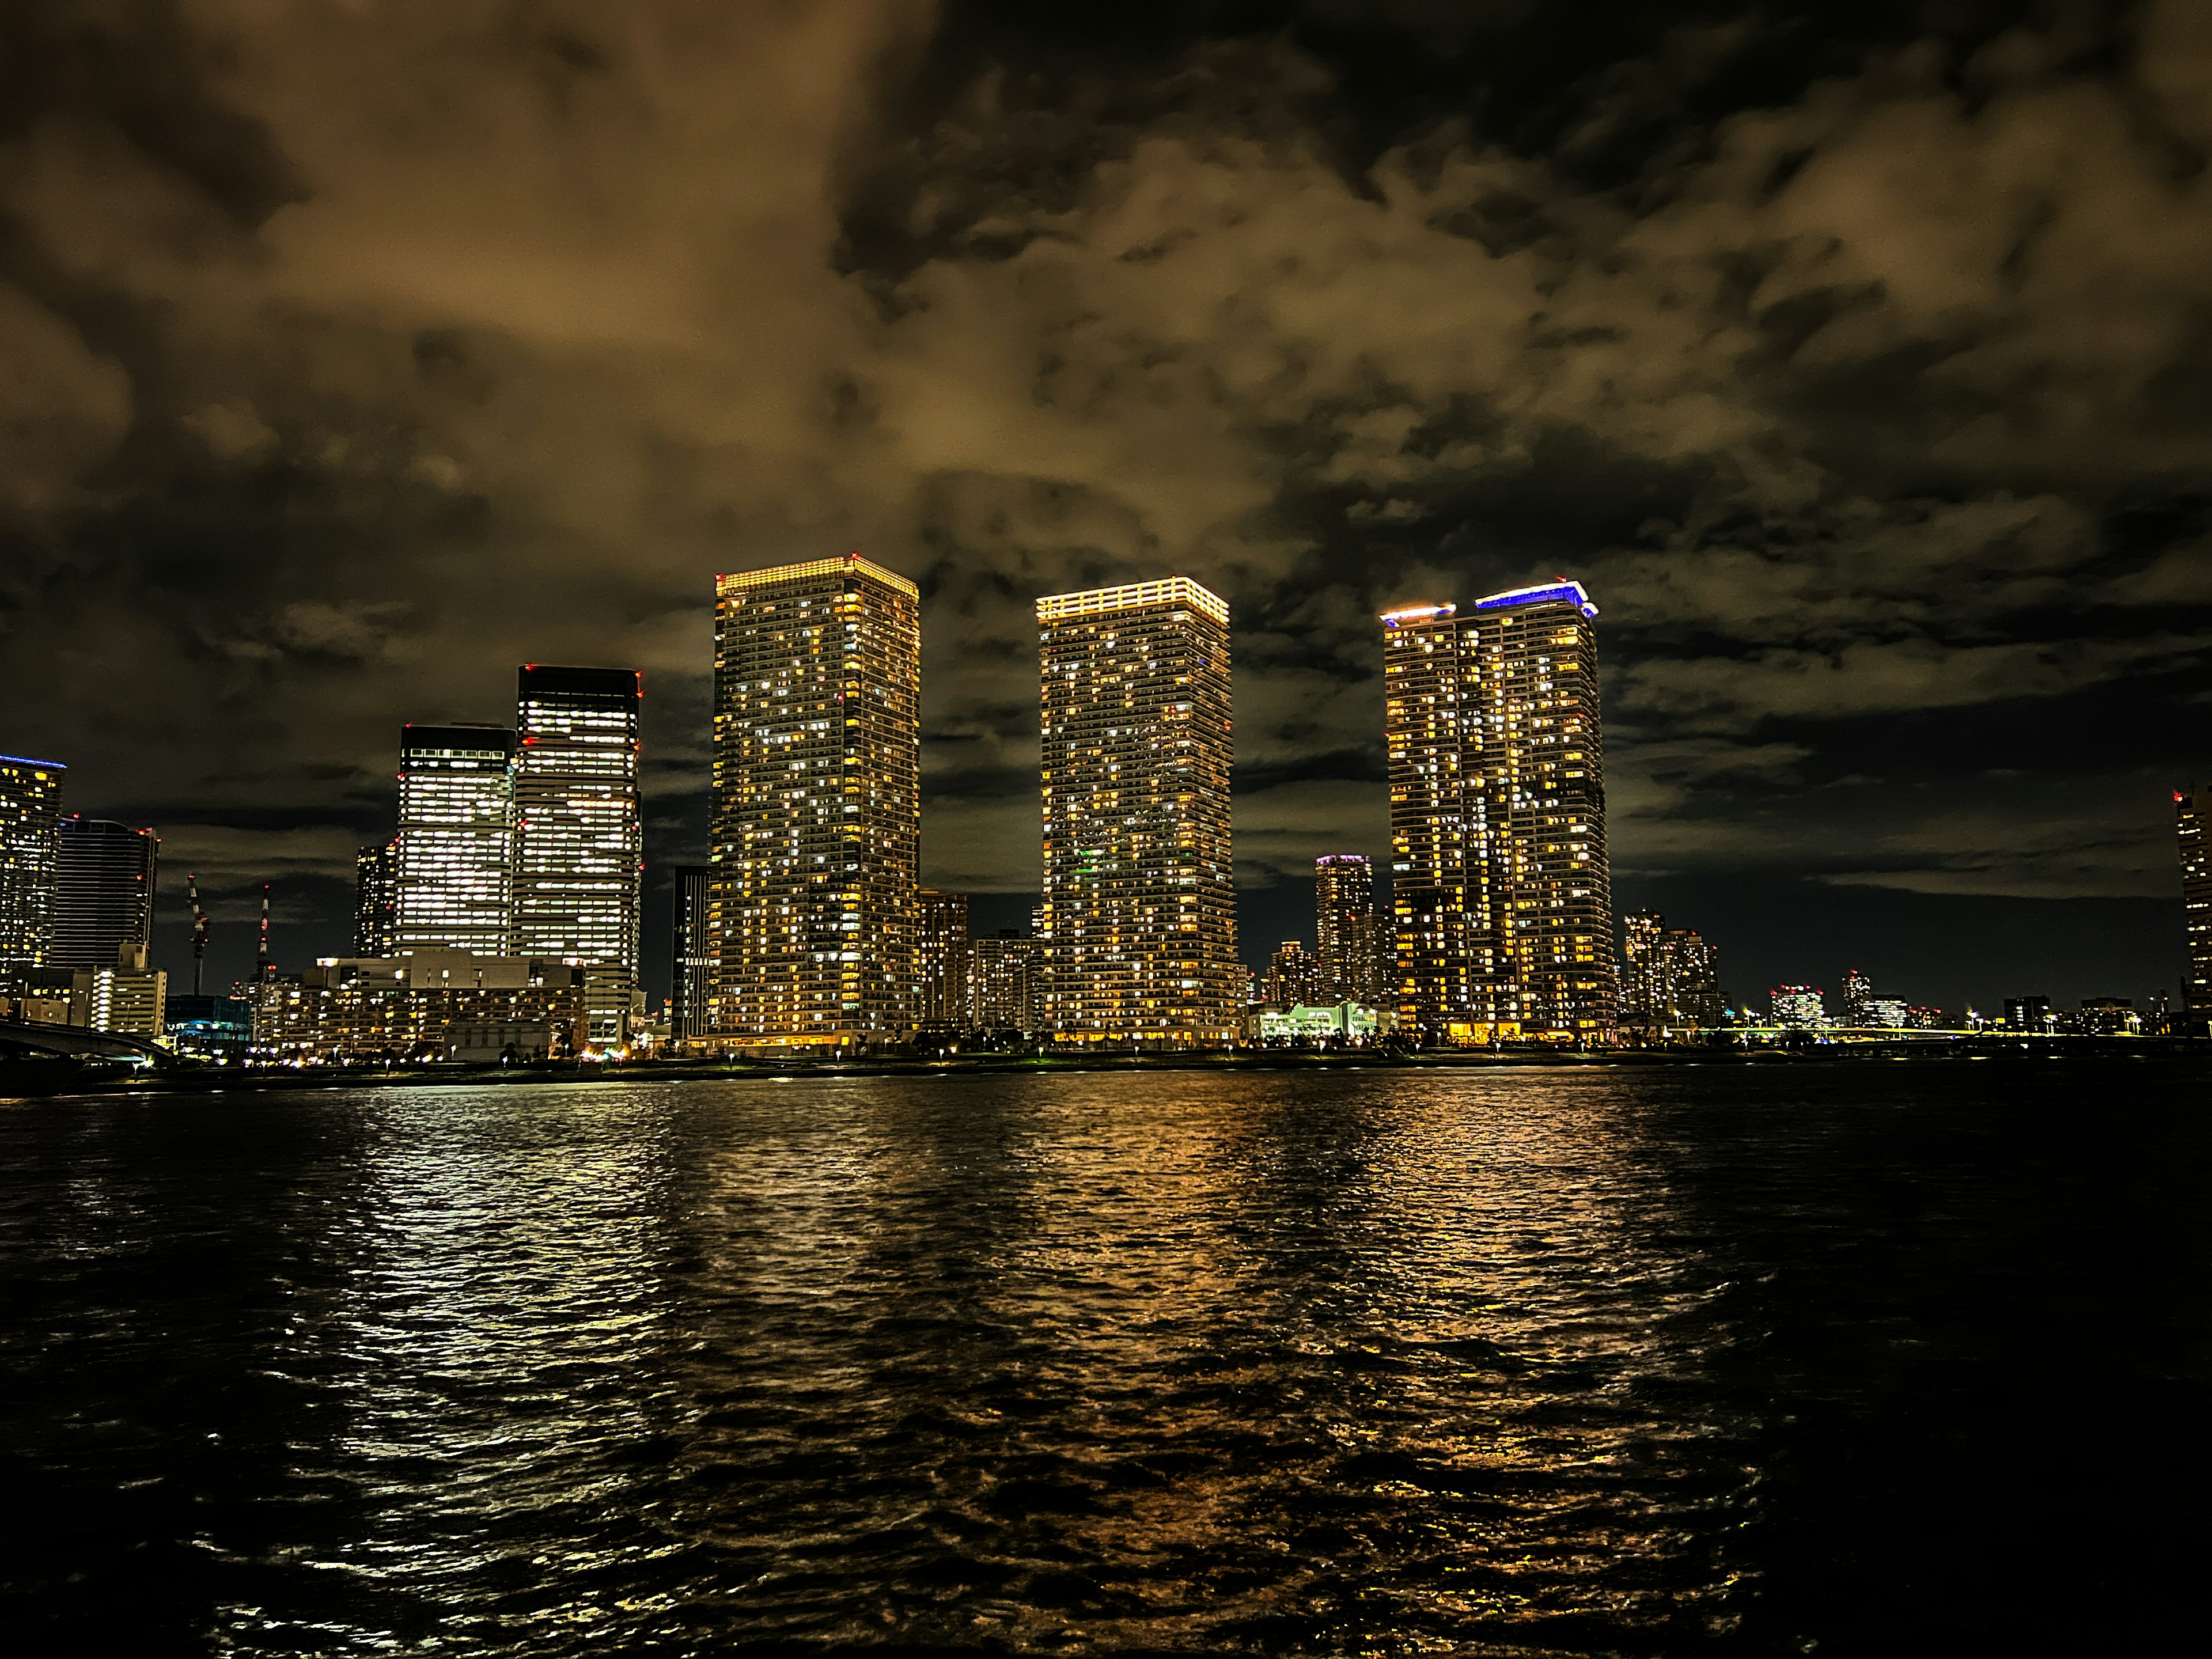
POLYGON ((1615 1033, 1595 619, 1566 580, 1383 617, 1398 1006, 1425 1042, 1615 1033))

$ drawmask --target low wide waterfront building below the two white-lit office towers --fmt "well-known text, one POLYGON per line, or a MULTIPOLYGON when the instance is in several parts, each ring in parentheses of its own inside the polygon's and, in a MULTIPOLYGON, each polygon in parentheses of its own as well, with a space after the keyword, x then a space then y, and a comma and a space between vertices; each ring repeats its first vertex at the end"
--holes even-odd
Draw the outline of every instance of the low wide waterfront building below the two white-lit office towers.
POLYGON ((588 969, 573 962, 416 949, 323 958, 252 987, 254 1053, 270 1060, 445 1060, 449 1026, 533 1026, 555 1055, 591 1042, 588 969))

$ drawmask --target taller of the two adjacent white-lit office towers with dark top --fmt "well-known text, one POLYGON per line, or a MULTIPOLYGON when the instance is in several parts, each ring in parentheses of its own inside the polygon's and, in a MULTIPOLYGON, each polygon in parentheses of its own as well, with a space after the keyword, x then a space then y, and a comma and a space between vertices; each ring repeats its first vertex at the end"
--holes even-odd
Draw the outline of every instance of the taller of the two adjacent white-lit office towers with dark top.
POLYGON ((637 973, 644 827, 630 668, 531 664, 515 686, 518 956, 637 973))

